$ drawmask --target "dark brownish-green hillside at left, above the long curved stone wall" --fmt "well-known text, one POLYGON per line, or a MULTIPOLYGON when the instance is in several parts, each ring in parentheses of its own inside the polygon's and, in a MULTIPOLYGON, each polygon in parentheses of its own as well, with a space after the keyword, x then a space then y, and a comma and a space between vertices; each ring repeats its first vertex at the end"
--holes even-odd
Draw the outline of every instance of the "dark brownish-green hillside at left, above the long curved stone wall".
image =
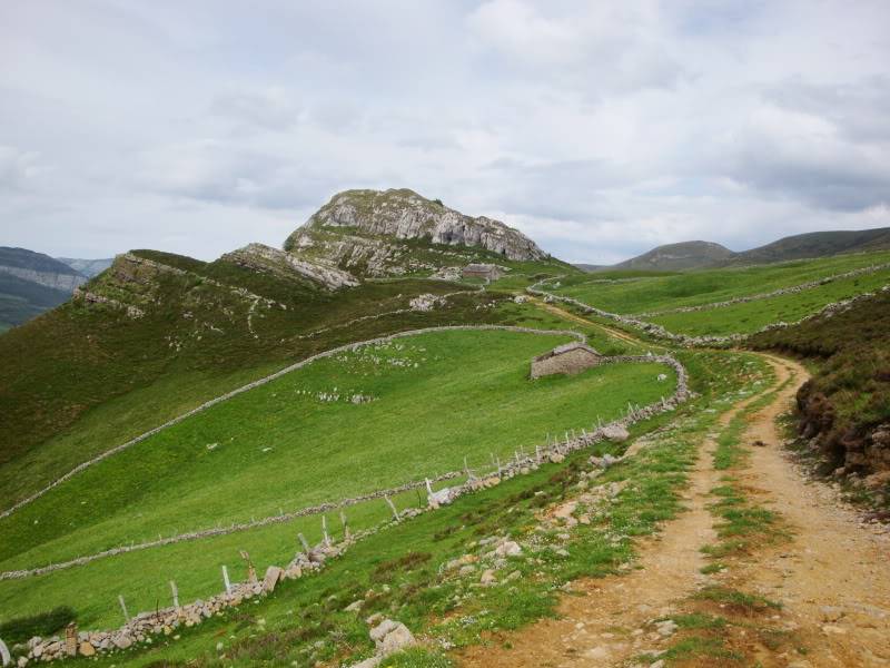
POLYGON ((417 294, 465 287, 403 279, 329 293, 229 263, 138 255, 188 273, 119 261, 86 289, 136 306, 141 316, 75 301, 0 337, 3 507, 88 456, 295 360, 382 333, 503 317, 481 307, 497 297, 466 294, 428 313, 342 326, 407 308, 417 294), (255 305, 244 291, 274 304, 255 305))

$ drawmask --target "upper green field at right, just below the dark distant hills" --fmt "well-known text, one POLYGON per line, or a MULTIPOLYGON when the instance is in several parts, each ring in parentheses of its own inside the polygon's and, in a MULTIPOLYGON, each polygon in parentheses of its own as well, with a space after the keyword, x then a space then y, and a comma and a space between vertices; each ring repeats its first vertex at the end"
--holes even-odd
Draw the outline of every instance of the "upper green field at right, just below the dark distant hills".
POLYGON ((562 278, 561 286, 552 292, 574 297, 604 311, 637 314, 769 293, 781 287, 888 262, 890 252, 880 252, 755 267, 643 276, 606 283, 600 274, 585 274, 562 278))

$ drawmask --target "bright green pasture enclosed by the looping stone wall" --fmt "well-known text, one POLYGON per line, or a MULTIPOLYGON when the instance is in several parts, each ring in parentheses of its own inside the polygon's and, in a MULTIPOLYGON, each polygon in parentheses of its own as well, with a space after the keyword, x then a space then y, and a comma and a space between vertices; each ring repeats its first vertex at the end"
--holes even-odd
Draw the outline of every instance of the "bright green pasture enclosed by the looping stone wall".
MULTIPOLYGON (((161 432, 0 520, 0 569, 337 500, 459 469, 464 456, 471 466, 487 468, 492 453, 505 460, 516 448, 542 444, 547 433, 589 426, 597 416, 616 416, 629 401, 644 404, 671 392, 672 381, 655 381, 665 372, 656 364, 527 380, 530 358, 564 341, 435 333, 313 364, 161 432), (353 403, 356 394, 372 401, 353 403)), ((379 518, 376 505, 356 512, 379 518)), ((317 519, 304 524, 317 533, 317 519)), ((218 588, 218 569, 208 561, 231 563, 236 544, 281 561, 281 552, 293 552, 294 531, 290 524, 256 538, 171 548, 167 553, 177 559, 165 559, 162 570, 180 587, 206 593, 218 588)), ((79 591, 81 605, 95 606, 97 616, 92 621, 109 621, 116 615, 109 586, 119 586, 125 566, 128 597, 142 609, 152 606, 158 568, 148 564, 156 559, 146 551, 4 582, 0 600, 27 591, 20 600, 39 610, 67 602, 53 593, 79 591), (50 584, 39 584, 44 581, 50 584)))

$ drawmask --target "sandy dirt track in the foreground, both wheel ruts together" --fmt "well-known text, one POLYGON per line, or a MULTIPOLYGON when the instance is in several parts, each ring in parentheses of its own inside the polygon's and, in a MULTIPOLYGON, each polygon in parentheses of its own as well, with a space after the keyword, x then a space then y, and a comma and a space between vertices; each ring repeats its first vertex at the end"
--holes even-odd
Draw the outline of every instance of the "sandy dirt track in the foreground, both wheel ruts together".
MULTIPOLYGON (((547 305, 548 306, 548 305, 547 305)), ((548 308, 550 310, 550 308, 548 308)), ((713 518, 706 510, 719 473, 712 468, 713 441, 701 448, 686 495, 689 511, 665 524, 660 539, 641 543, 639 570, 630 574, 575 582, 581 596, 565 596, 562 618, 544 620, 510 633, 493 647, 475 647, 461 656, 462 666, 622 666, 646 649, 666 644, 646 622, 670 617, 706 583, 738 587, 782 602, 770 623, 792 633, 805 654, 787 646, 733 638, 748 659, 767 666, 890 666, 890 536, 862 527, 833 491, 810 483, 780 445, 775 418, 788 410, 807 372, 800 365, 769 357, 777 385, 790 382, 769 406, 750 420, 743 442, 749 465, 736 478, 756 501, 788 522, 792 539, 756 550, 723 574, 702 576, 699 551, 714 541, 713 518)), ((748 400, 751 401, 751 400, 748 400)), ((745 402, 721 419, 726 424, 745 402)), ((645 665, 645 664, 644 664, 645 665)), ((720 659, 693 659, 685 666, 720 666, 720 659)))

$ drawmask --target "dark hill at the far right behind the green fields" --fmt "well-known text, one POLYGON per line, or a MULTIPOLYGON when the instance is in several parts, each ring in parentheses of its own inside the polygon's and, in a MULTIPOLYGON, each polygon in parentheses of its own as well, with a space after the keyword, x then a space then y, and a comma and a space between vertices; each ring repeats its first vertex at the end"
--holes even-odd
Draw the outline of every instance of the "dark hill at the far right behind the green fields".
POLYGON ((890 248, 890 227, 878 229, 858 229, 839 232, 811 232, 789 236, 736 253, 730 264, 769 264, 803 259, 808 257, 825 257, 840 253, 861 253, 890 248))

